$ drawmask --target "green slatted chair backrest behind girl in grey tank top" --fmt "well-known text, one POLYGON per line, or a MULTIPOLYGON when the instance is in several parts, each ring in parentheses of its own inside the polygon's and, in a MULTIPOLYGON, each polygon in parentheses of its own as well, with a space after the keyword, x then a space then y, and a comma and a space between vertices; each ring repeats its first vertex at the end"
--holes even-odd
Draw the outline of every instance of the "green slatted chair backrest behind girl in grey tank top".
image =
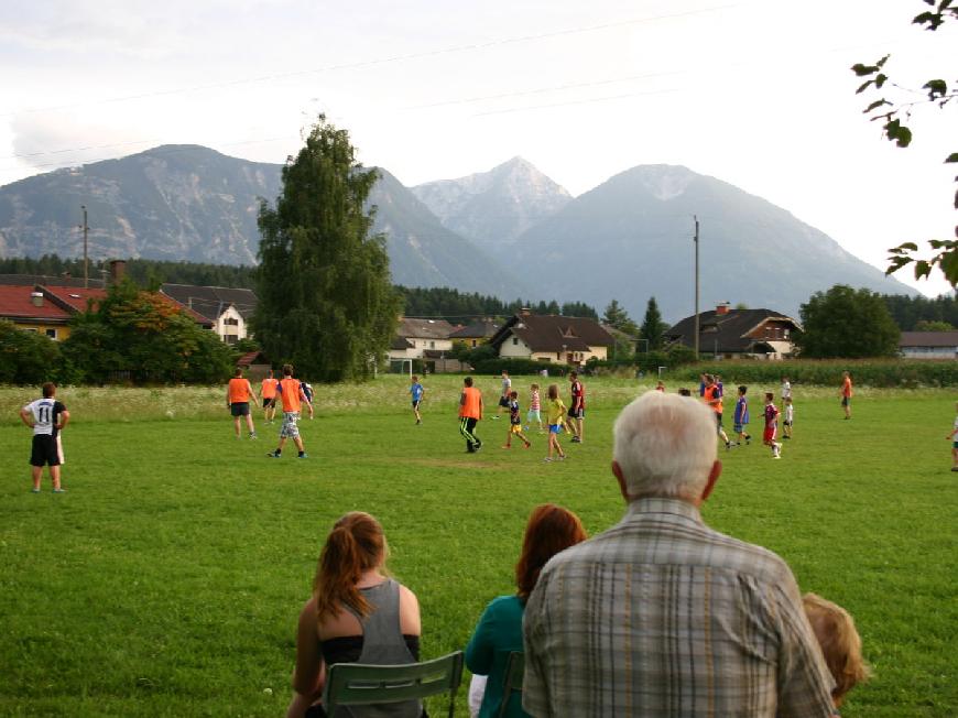
POLYGON ((401 665, 335 663, 326 675, 323 707, 330 718, 337 706, 369 706, 449 694, 449 718, 462 681, 462 652, 401 665))

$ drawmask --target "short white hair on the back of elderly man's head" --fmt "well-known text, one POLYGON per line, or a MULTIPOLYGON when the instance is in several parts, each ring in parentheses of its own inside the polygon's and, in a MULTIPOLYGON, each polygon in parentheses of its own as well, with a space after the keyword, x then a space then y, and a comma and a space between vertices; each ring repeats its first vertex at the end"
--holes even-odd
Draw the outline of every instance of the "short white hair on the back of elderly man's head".
POLYGON ((696 399, 650 391, 622 410, 612 457, 629 498, 697 499, 716 460, 715 412, 696 399))

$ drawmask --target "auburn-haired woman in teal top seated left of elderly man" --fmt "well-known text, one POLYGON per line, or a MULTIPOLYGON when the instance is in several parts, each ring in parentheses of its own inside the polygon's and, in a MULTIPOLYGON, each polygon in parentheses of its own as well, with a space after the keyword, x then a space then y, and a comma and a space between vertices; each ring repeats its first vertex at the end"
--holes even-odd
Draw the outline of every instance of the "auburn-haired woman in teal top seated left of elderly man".
MULTIPOLYGON (((466 667, 477 676, 488 676, 480 718, 500 715, 505 664, 510 653, 522 651, 522 613, 540 572, 549 558, 586 537, 583 522, 571 511, 553 503, 533 509, 525 526, 522 554, 515 564, 518 590, 514 596, 500 596, 486 607, 466 646, 466 667)), ((509 700, 505 716, 527 716, 519 694, 505 696, 505 699, 509 700)))

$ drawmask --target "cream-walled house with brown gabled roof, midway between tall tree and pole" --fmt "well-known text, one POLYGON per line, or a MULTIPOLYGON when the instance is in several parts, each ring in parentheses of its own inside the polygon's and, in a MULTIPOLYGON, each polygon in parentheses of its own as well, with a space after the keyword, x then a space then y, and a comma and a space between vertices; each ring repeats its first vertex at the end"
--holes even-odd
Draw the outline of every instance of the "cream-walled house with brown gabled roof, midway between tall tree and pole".
POLYGON ((500 357, 579 366, 605 360, 616 340, 595 319, 538 315, 523 309, 500 327, 489 344, 500 357))

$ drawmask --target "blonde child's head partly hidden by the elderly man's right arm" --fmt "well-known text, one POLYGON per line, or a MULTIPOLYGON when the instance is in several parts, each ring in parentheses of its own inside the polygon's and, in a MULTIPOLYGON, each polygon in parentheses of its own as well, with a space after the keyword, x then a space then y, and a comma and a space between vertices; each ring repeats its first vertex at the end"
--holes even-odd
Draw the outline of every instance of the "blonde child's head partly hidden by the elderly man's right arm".
POLYGON ((805 594, 802 606, 821 646, 825 664, 835 678, 831 700, 839 708, 848 692, 871 674, 861 657, 861 637, 854 628, 854 620, 838 603, 817 594, 805 594))

